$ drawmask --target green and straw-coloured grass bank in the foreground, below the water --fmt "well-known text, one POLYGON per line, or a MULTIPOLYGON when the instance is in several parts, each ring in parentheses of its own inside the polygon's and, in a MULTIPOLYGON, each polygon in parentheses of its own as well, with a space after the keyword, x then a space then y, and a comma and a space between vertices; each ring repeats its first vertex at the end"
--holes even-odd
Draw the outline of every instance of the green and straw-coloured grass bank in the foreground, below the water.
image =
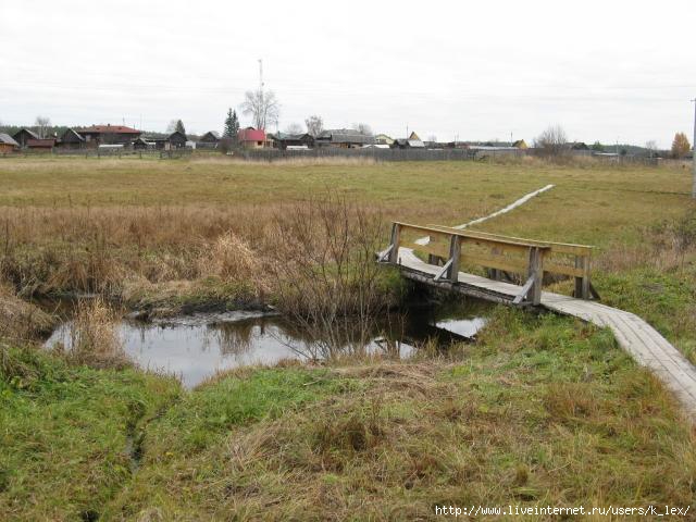
POLYGON ((0 381, 0 507, 16 520, 413 520, 436 504, 693 509, 694 435, 608 331, 497 308, 463 352, 249 369, 183 391, 15 351, 34 377, 0 381))

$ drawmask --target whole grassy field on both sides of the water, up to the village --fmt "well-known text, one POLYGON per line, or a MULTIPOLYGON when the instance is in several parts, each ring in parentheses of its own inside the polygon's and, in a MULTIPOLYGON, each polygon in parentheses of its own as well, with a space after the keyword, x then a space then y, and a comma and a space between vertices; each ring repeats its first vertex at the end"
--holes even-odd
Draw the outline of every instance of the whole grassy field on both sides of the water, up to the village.
POLYGON ((0 330, 14 337, 0 339, 0 513, 422 520, 442 504, 696 509, 696 435, 673 398, 609 332, 568 318, 499 308, 475 345, 448 356, 249 369, 192 391, 17 340, 32 333, 21 300, 32 295, 97 291, 133 307, 272 299, 250 259, 263 263, 274 223, 327 190, 378 217, 386 244, 389 220, 459 224, 549 183, 480 228, 597 245, 604 301, 643 315, 696 361, 685 170, 0 160, 0 321, 24 318, 0 330))

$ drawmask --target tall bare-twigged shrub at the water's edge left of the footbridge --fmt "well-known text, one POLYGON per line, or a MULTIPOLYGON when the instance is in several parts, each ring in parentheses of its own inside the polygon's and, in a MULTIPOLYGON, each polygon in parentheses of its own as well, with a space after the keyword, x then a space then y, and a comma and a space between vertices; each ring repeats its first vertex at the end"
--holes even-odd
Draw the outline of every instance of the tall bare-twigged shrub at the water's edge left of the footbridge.
POLYGON ((311 339, 311 358, 356 352, 368 343, 385 306, 374 259, 381 232, 378 214, 335 192, 276 216, 266 248, 274 294, 311 339))

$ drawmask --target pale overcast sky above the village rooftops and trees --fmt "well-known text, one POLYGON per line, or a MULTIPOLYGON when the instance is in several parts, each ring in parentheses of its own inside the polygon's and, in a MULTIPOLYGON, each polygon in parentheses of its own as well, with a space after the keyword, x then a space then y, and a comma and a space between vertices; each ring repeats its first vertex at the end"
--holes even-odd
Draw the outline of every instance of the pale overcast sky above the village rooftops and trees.
POLYGON ((394 137, 531 141, 558 123, 571 139, 669 147, 693 134, 695 27, 694 0, 0 0, 0 122, 221 130, 263 59, 281 129, 320 114, 394 137))

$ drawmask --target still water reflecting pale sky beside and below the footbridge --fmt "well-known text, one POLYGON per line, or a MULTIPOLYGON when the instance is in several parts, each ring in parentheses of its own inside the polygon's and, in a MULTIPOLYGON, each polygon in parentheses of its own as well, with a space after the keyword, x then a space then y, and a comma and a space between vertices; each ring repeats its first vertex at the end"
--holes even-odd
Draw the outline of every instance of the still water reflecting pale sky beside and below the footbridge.
MULTIPOLYGON (((431 338, 439 346, 470 340, 486 324, 488 306, 468 301, 431 308, 410 308, 374 326, 363 347, 369 353, 411 357, 417 346, 431 338)), ((70 349, 71 321, 60 325, 46 347, 62 343, 70 349)), ((140 368, 177 375, 191 388, 217 371, 239 366, 273 365, 284 359, 318 359, 321 343, 278 315, 259 312, 225 312, 156 320, 123 320, 117 333, 129 358, 140 368)), ((356 344, 345 341, 346 352, 356 344)))

